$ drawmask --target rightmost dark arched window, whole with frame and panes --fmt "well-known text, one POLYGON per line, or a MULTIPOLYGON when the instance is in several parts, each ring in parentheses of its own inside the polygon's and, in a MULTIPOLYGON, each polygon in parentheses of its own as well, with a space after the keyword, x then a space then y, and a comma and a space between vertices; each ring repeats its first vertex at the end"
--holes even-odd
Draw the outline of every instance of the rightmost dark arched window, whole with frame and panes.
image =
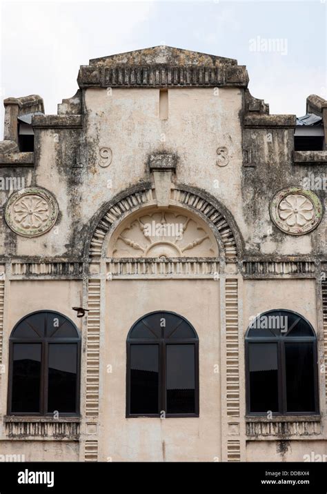
POLYGON ((249 414, 318 413, 317 337, 301 315, 269 310, 254 319, 246 367, 249 414))

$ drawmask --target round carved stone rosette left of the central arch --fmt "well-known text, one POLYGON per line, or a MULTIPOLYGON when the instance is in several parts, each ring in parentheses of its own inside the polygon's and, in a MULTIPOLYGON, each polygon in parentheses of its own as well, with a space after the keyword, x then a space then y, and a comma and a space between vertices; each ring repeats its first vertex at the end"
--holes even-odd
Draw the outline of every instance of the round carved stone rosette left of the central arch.
POLYGON ((29 187, 14 192, 6 206, 5 219, 17 235, 37 237, 54 226, 58 216, 56 199, 43 188, 29 187))

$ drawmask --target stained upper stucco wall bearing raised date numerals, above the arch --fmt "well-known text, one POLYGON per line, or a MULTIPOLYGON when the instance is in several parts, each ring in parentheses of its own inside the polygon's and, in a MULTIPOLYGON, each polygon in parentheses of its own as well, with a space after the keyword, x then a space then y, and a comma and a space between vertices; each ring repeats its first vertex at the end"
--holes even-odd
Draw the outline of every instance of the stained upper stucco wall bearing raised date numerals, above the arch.
MULTIPOLYGON (((81 95, 83 128, 37 128, 34 170, 8 172, 26 176, 26 186, 37 184, 54 194, 57 228, 40 241, 14 237, 3 224, 7 255, 80 255, 90 219, 103 204, 151 180, 151 152, 176 155, 174 180, 197 186, 226 206, 248 255, 324 253, 325 218, 300 237, 285 235, 270 219, 276 192, 301 186, 310 173, 321 175, 321 166, 293 164, 293 128, 273 120, 270 128, 268 123, 242 128, 245 96, 240 88, 168 89, 168 119, 159 117, 159 95, 155 88, 87 88, 81 95), (226 148, 223 159, 217 154, 221 147, 226 148), (101 156, 103 148, 110 148, 109 158, 101 156), (251 166, 244 166, 244 152, 250 152, 251 166), (227 165, 218 166, 221 161, 227 165)), ((325 204, 324 190, 315 192, 325 204)), ((8 192, 0 193, 4 204, 8 192)))

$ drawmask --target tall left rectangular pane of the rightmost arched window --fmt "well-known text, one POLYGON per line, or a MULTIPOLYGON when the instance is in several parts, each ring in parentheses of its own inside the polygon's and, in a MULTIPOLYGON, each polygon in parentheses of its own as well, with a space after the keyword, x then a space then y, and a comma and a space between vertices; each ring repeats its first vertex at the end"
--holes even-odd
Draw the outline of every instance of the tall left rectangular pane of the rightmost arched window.
POLYGON ((250 412, 278 411, 277 344, 248 344, 250 412))

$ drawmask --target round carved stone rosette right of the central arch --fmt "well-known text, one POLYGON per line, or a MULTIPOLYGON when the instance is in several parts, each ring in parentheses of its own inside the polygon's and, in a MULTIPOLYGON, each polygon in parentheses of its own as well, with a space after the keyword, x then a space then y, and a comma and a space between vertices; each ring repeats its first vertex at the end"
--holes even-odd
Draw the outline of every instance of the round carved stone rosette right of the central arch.
POLYGON ((304 235, 319 225, 322 217, 321 202, 311 190, 288 187, 279 190, 273 198, 270 217, 282 232, 304 235))

